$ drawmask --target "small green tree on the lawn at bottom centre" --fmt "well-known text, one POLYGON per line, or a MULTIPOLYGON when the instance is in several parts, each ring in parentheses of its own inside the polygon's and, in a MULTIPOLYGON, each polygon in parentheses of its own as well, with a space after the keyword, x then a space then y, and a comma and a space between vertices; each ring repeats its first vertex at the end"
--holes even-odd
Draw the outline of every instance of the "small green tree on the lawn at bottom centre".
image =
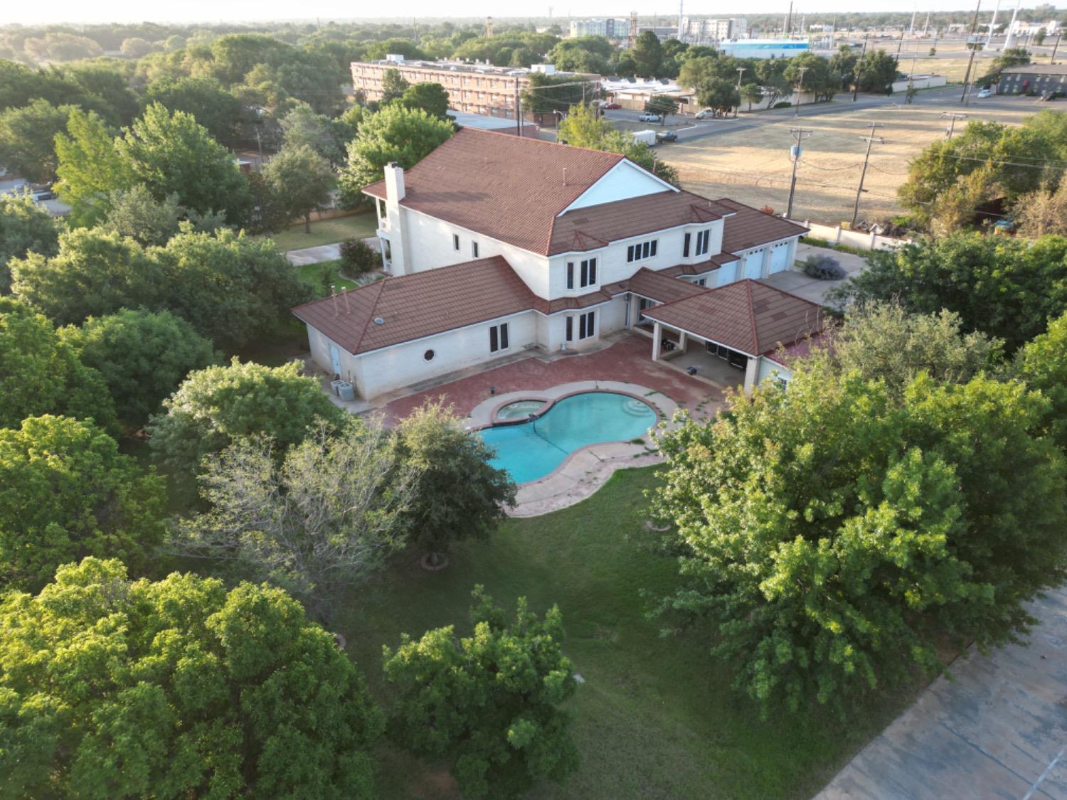
POLYGON ((559 707, 577 685, 559 608, 540 621, 520 597, 509 624, 482 587, 473 596, 471 637, 449 625, 382 649, 397 692, 388 734, 416 753, 450 757, 463 797, 520 797, 541 781, 562 783, 579 756, 571 715, 559 707))

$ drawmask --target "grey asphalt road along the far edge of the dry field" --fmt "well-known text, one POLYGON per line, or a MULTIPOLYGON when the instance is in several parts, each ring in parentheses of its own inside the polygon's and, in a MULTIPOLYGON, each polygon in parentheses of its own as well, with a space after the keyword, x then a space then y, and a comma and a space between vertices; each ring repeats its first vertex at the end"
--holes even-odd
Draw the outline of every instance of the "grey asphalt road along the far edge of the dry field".
MULTIPOLYGON (((1033 112, 1036 113, 1045 108, 1064 109, 1064 107, 1067 106, 1067 102, 1063 100, 1046 103, 1038 102, 1037 98, 1034 97, 1000 97, 998 95, 992 95, 991 97, 978 100, 976 99, 976 91, 972 92, 969 101, 965 105, 959 101, 961 92, 962 90, 958 85, 919 92, 914 96, 912 105, 941 107, 943 111, 958 111, 959 113, 968 113, 969 111, 976 112, 983 108, 1023 108, 1026 110, 1032 109, 1033 112)), ((843 93, 838 95, 832 102, 801 106, 799 119, 812 116, 823 116, 825 114, 841 114, 856 110, 894 107, 901 106, 903 102, 903 94, 860 95, 856 102, 853 102, 851 94, 843 93)), ((626 123, 638 124, 637 118, 641 115, 641 113, 642 112, 640 111, 618 109, 614 111, 605 111, 604 115, 608 121, 618 119, 626 123)), ((796 113, 796 107, 793 107, 771 111, 758 111, 752 112, 751 114, 742 113, 736 118, 731 117, 728 119, 697 121, 690 116, 674 115, 668 117, 664 126, 648 124, 647 127, 655 130, 673 130, 678 133, 679 142, 689 142, 697 139, 703 139, 705 137, 714 137, 720 133, 758 128, 764 125, 779 125, 782 123, 796 125, 798 121, 796 113)), ((628 125, 626 127, 630 128, 628 125)), ((660 146, 670 147, 669 144, 660 146)))

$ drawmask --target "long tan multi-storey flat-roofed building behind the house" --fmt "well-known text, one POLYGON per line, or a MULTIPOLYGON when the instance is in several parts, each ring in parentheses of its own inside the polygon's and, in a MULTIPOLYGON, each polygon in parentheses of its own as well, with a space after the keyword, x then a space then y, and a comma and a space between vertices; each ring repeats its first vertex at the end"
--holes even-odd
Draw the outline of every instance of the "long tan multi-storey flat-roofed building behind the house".
MULTIPOLYGON (((357 92, 363 92, 367 100, 382 99, 385 73, 396 69, 409 83, 440 83, 448 92, 448 107, 455 111, 506 119, 515 118, 515 92, 526 89, 531 73, 578 77, 572 73, 556 73, 552 64, 535 64, 526 69, 478 62, 405 61, 402 55, 386 55, 383 61, 354 61, 351 67, 352 85, 357 92)), ((524 119, 551 125, 553 115, 543 116, 545 118, 541 119, 539 115, 523 114, 524 119)))

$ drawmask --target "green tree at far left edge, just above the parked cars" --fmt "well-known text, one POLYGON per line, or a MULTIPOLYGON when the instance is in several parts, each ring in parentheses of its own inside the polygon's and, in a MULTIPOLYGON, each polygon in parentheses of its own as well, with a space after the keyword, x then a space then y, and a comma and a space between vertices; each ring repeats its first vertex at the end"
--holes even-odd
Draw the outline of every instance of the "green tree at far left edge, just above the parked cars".
POLYGON ((36 99, 0 112, 0 163, 34 183, 55 178, 55 134, 66 127, 70 106, 36 99))

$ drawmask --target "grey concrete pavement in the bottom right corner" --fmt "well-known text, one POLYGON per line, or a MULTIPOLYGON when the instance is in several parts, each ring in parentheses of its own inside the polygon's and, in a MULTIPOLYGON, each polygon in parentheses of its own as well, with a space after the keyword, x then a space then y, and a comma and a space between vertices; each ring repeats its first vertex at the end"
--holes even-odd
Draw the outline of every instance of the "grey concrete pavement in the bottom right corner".
POLYGON ((1031 613, 1029 647, 971 647, 815 800, 1067 798, 1067 588, 1031 613))

